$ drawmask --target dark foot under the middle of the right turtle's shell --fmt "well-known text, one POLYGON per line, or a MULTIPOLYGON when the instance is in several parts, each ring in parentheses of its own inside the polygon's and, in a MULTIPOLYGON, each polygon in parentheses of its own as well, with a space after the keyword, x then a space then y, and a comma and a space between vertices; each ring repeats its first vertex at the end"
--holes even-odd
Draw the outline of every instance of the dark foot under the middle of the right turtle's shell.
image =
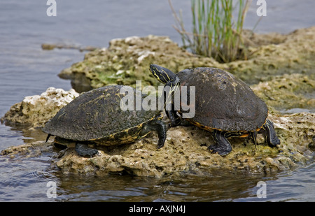
POLYGON ((221 156, 227 155, 232 151, 232 146, 227 139, 228 134, 225 131, 212 131, 212 137, 214 138, 214 145, 210 145, 207 149, 211 153, 218 153, 221 156))

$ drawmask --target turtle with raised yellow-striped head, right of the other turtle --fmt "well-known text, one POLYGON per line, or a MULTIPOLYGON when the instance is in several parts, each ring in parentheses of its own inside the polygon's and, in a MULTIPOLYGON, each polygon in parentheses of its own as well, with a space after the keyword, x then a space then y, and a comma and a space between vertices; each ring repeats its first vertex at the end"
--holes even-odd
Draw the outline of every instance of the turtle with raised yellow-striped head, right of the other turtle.
MULTIPOLYGON (((229 154, 232 151, 228 141, 230 137, 249 136, 256 146, 258 132, 265 135, 265 142, 270 147, 280 144, 273 122, 267 119, 266 103, 232 73, 217 68, 198 67, 175 74, 156 64, 150 65, 150 71, 165 87, 195 86, 195 101, 190 101, 190 105, 195 102, 195 115, 185 120, 211 132, 214 145, 207 148, 210 152, 222 156, 229 154)), ((189 98, 190 88, 187 89, 187 94, 189 98)), ((188 103, 181 101, 179 110, 174 109, 174 100, 170 103, 172 107, 166 113, 171 127, 176 127, 181 124, 180 116, 185 113, 182 108, 188 106, 188 103)))

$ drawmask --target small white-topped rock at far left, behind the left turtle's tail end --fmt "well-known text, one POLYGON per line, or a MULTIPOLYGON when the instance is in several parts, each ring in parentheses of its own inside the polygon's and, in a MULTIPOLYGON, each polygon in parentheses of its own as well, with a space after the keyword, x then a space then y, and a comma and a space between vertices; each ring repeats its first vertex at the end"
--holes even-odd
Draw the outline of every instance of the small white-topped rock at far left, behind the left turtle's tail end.
POLYGON ((59 109, 78 95, 74 89, 64 91, 49 87, 41 95, 26 96, 22 102, 15 103, 6 115, 1 117, 1 122, 43 127, 43 124, 54 117, 59 109))

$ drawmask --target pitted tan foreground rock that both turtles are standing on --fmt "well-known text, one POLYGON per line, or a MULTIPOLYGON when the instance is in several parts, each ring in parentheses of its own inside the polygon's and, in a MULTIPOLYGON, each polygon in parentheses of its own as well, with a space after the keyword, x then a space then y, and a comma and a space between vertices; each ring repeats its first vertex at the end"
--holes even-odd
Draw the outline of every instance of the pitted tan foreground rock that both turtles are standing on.
POLYGON ((102 175, 130 173, 132 175, 162 177, 182 172, 209 173, 216 169, 229 172, 270 174, 305 164, 314 155, 315 115, 296 113, 274 115, 269 119, 281 140, 271 148, 258 136, 255 147, 246 138, 232 138, 233 150, 225 157, 211 154, 207 146, 213 144, 210 133, 196 127, 176 127, 167 131, 167 141, 156 148, 155 134, 130 145, 99 147, 99 155, 92 158, 78 156, 73 148, 61 152, 55 165, 64 173, 102 175))

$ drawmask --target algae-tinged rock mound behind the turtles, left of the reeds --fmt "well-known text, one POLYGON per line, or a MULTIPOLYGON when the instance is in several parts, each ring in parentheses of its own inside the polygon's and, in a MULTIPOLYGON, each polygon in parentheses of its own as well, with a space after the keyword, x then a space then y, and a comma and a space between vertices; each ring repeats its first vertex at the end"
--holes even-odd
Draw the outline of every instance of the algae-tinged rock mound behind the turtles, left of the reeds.
MULTIPOLYGON (((77 92, 84 92, 104 85, 130 85, 136 80, 142 85, 158 85, 148 70, 151 63, 163 64, 173 71, 179 66, 193 66, 192 54, 166 36, 129 37, 113 39, 109 48, 88 52, 82 62, 59 73, 60 78, 71 79, 77 92)), ((212 62, 209 59, 209 62, 212 62)))

